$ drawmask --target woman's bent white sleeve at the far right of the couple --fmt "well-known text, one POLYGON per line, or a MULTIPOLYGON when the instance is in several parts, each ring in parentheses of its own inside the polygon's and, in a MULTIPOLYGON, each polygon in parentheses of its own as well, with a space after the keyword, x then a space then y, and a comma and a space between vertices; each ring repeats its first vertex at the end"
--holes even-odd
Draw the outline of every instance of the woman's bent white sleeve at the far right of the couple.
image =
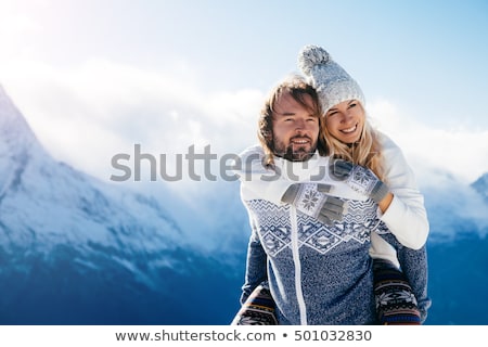
POLYGON ((394 198, 380 215, 390 232, 406 247, 420 249, 427 241, 429 224, 424 197, 418 189, 414 174, 400 149, 388 138, 384 140, 386 184, 394 198))

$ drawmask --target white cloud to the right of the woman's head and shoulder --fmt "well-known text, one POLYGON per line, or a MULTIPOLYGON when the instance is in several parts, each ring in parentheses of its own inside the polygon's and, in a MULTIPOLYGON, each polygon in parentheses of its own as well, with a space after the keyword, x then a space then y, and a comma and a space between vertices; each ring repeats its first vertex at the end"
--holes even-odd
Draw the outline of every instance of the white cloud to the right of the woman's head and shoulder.
POLYGON ((447 171, 467 184, 488 172, 488 130, 428 127, 386 100, 368 107, 373 124, 402 149, 423 187, 444 184, 447 171))

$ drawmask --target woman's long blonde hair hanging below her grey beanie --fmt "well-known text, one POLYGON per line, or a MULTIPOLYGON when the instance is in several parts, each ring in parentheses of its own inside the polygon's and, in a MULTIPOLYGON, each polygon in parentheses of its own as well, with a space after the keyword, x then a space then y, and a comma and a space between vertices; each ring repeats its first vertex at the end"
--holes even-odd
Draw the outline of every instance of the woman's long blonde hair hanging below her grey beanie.
POLYGON ((380 142, 378 133, 369 123, 365 110, 361 103, 360 107, 364 116, 364 126, 359 141, 355 143, 344 143, 334 138, 326 127, 326 115, 323 115, 320 137, 322 137, 323 141, 328 144, 328 155, 365 166, 385 182, 383 147, 380 142))

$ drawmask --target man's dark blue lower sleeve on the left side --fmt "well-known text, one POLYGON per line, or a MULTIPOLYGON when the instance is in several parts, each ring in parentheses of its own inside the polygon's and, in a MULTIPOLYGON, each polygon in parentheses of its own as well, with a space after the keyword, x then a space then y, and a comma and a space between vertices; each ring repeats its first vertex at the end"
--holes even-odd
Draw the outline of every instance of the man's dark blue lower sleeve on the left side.
POLYGON ((252 233, 247 245, 247 259, 245 281, 242 286, 241 305, 243 305, 251 293, 262 282, 268 280, 267 255, 259 240, 256 224, 251 220, 252 233))

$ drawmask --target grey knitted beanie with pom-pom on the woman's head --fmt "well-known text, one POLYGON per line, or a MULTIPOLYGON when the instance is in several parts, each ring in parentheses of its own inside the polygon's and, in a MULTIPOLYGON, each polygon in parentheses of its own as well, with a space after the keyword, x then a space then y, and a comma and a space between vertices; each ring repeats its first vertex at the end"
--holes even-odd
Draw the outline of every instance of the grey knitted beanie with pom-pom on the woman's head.
POLYGON ((317 90, 323 114, 346 100, 358 100, 365 106, 364 94, 329 53, 318 46, 305 46, 298 53, 298 67, 317 90))

